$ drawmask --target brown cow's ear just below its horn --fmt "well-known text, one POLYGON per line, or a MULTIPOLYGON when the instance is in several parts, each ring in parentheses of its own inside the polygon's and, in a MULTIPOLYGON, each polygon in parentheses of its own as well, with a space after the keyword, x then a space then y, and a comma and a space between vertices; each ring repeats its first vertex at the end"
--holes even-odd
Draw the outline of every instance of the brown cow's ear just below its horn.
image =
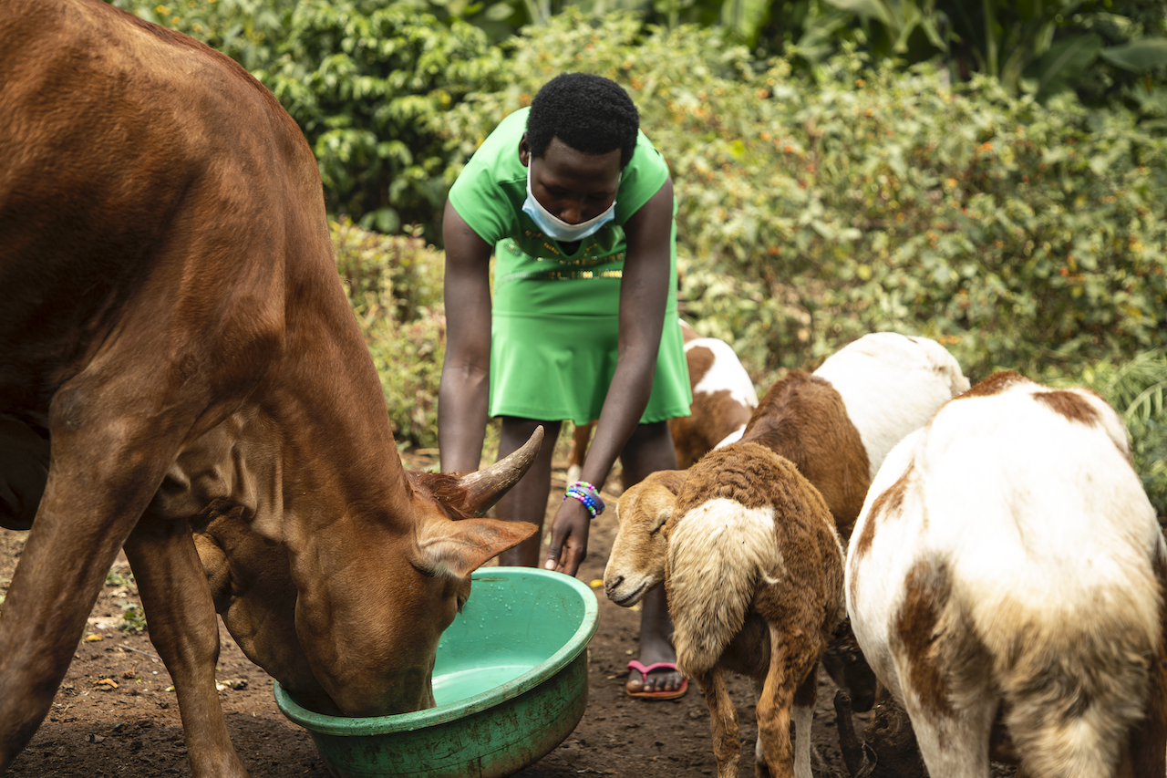
POLYGON ((418 533, 414 563, 432 575, 463 578, 536 530, 538 527, 524 521, 433 519, 418 533))

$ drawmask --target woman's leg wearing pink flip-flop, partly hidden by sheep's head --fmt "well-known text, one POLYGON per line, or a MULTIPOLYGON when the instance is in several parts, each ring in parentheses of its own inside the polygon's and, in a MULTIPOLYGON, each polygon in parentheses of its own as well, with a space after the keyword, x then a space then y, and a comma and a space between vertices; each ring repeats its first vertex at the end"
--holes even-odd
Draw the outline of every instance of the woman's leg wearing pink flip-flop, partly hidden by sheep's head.
MULTIPOLYGON (((626 489, 642 481, 649 473, 658 470, 677 470, 677 454, 672 447, 672 435, 669 432, 668 422, 638 425, 633 437, 624 444, 620 461, 623 466, 626 489)), ((672 619, 669 618, 664 586, 650 590, 641 603, 638 659, 645 667, 656 662, 677 661, 677 652, 672 648, 672 619)), ((644 679, 634 671, 628 676, 627 688, 630 693, 676 692, 680 688, 682 680, 680 673, 673 669, 656 669, 644 679)))

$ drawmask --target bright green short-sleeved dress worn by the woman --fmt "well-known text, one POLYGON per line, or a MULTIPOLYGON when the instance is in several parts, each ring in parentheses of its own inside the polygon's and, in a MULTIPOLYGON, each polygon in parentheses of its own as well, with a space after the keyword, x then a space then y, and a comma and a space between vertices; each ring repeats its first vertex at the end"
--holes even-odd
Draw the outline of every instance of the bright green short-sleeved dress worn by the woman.
MULTIPOLYGON (((511 113, 490 133, 449 199, 470 229, 495 246, 490 415, 586 424, 600 417, 616 370, 622 225, 661 189, 669 168, 640 133, 616 193, 615 218, 568 255, 523 213, 526 168, 518 160, 518 144, 529 111, 511 113)), ((692 402, 677 324, 676 222, 669 289, 656 378, 642 423, 689 416, 692 402)))

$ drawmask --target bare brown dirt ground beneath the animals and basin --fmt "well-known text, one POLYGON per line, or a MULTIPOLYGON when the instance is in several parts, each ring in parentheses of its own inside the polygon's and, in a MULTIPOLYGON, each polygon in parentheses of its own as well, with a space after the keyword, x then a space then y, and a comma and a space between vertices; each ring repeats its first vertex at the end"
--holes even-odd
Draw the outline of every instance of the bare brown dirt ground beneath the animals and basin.
MULTIPOLYGON (((415 470, 435 461, 408 452, 404 458, 406 466, 415 470)), ((561 495, 565 486, 561 467, 555 477, 561 495)), ((615 500, 616 484, 615 477, 609 479, 606 499, 615 500)), ((557 499, 553 491, 548 525, 557 499)), ((579 572, 585 582, 603 577, 616 534, 614 513, 606 512, 595 521, 588 558, 579 572)), ((0 530, 0 596, 15 569, 25 536, 26 533, 0 530)), ((588 648, 589 692, 584 720, 559 748, 516 774, 519 778, 715 774, 710 715, 700 689, 691 683, 683 699, 666 702, 626 696, 627 664, 637 653, 640 612, 614 605, 602 589, 595 591, 600 619, 588 648)), ((132 617, 130 609, 135 606, 138 593, 128 565, 121 561, 111 571, 93 609, 86 635, 77 647, 48 718, 5 778, 190 774, 170 678, 148 635, 123 628, 127 612, 132 617)), ((222 623, 219 632, 223 644, 217 672, 219 699, 235 746, 252 778, 328 778, 330 773, 308 734, 277 708, 271 678, 244 657, 222 623)), ((752 776, 757 731, 753 694, 749 682, 741 678, 732 680, 731 690, 741 722, 741 774, 752 776)), ((833 685, 820 673, 812 739, 816 778, 847 774, 839 752, 833 697, 833 685)), ((868 716, 855 716, 860 731, 868 716)))

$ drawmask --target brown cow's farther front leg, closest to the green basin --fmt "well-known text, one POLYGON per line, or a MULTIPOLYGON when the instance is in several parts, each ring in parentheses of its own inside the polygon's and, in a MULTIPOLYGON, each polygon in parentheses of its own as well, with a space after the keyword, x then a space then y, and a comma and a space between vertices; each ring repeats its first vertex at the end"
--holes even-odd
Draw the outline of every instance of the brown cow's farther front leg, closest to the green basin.
POLYGON ((219 634, 190 527, 147 514, 126 541, 149 638, 179 696, 194 778, 247 774, 231 745, 215 689, 219 634))

